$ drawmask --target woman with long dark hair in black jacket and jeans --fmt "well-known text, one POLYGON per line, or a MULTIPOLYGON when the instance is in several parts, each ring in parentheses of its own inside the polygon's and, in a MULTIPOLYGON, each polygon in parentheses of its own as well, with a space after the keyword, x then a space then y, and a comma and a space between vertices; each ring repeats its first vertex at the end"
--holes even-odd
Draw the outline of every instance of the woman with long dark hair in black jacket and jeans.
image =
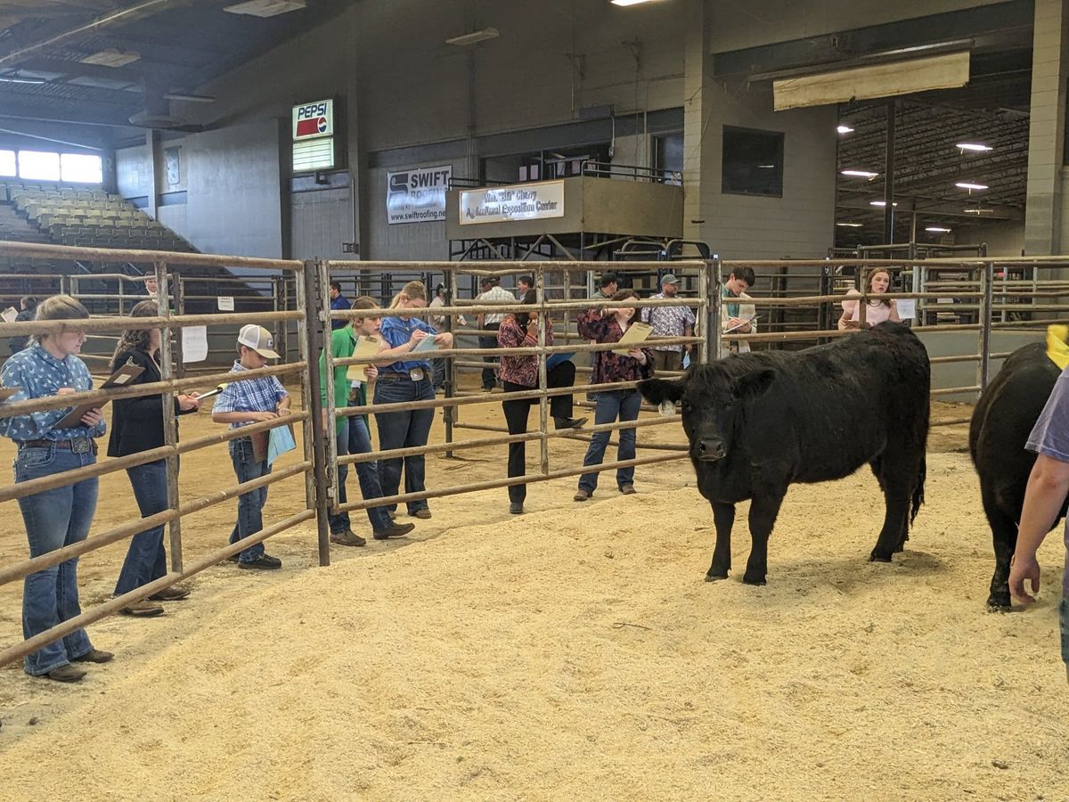
MULTIPOLYGON (((130 310, 130 317, 153 318, 158 309, 155 300, 142 300, 130 310)), ((158 328, 126 329, 115 345, 115 353, 111 357, 111 370, 118 371, 125 365, 142 368, 141 372, 129 382, 130 386, 161 381, 162 372, 158 361, 159 338, 158 328)), ((186 415, 199 408, 200 400, 196 395, 180 395, 174 398, 175 415, 186 415)), ((177 421, 174 426, 176 430, 177 421)), ((159 448, 164 444, 162 396, 115 399, 111 415, 111 436, 108 439, 108 457, 128 457, 159 448)), ((142 518, 169 509, 166 460, 155 460, 126 468, 126 476, 134 488, 134 497, 137 499, 142 518)), ((160 524, 130 538, 126 559, 115 583, 115 596, 128 593, 166 574, 167 552, 164 549, 164 525, 160 524)), ((187 596, 189 596, 187 589, 173 585, 148 599, 127 605, 123 608, 123 613, 141 617, 162 615, 164 608, 159 602, 177 601, 187 596)))

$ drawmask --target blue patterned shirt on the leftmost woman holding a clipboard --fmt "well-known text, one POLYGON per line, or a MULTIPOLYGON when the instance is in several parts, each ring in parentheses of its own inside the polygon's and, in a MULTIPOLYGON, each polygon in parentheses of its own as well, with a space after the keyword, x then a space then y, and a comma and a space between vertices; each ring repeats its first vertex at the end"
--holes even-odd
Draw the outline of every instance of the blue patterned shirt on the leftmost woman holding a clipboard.
MULTIPOLYGON (((19 391, 11 397, 11 401, 25 401, 30 398, 58 396, 61 387, 73 387, 76 392, 91 390, 93 377, 89 374, 86 363, 77 356, 57 359, 40 342, 35 342, 4 363, 3 370, 0 371, 0 384, 4 387, 19 388, 19 391)), ((67 406, 62 410, 44 410, 28 415, 0 418, 0 435, 14 441, 58 441, 99 437, 104 434, 103 420, 92 428, 76 426, 69 429, 53 429, 52 427, 65 418, 72 410, 73 406, 67 406)))

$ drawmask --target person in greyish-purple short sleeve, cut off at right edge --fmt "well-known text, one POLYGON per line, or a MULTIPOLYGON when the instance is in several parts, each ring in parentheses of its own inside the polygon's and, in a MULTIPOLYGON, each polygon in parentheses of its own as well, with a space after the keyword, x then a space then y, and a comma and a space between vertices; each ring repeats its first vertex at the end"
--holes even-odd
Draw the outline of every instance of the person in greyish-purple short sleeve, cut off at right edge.
MULTIPOLYGON (((1039 562, 1036 552, 1057 520, 1069 495, 1069 368, 1062 372, 1054 390, 1040 413, 1025 445, 1036 451, 1036 464, 1028 476, 1024 508, 1018 525, 1017 549, 1009 570, 1009 592, 1019 604, 1032 604, 1035 597, 1024 588, 1029 581, 1032 592, 1039 590, 1039 562)), ((1062 574, 1062 603, 1058 620, 1062 629, 1062 659, 1069 675, 1069 522, 1066 534, 1066 570, 1062 574)))

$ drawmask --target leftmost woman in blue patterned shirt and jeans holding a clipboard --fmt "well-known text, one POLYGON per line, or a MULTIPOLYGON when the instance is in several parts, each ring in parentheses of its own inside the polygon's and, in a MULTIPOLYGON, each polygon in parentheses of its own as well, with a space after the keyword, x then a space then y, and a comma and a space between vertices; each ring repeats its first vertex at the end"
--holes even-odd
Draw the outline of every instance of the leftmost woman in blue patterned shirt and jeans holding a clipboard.
MULTIPOLYGON (((36 320, 84 320, 89 312, 69 295, 56 295, 37 307, 36 320)), ((30 346, 4 363, 0 384, 18 387, 12 401, 83 392, 93 388, 86 363, 77 357, 86 333, 66 327, 33 337, 30 346)), ((78 426, 59 429, 71 407, 46 410, 14 417, 0 417, 0 435, 15 441, 15 482, 41 479, 96 462, 94 437, 104 434, 98 408, 87 412, 78 426)), ((30 556, 84 540, 96 512, 98 480, 82 479, 18 499, 26 523, 30 556)), ((28 575, 22 590, 22 635, 38 635, 81 615, 78 603, 78 558, 44 568, 28 575)), ((86 630, 43 646, 26 658, 27 674, 61 682, 76 682, 86 672, 74 663, 106 663, 112 654, 94 649, 86 630)))

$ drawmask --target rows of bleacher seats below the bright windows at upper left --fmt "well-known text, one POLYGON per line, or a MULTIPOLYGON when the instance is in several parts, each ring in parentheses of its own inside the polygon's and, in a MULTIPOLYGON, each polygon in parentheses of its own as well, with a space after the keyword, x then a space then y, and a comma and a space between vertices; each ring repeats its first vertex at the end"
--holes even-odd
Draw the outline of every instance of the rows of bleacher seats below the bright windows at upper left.
MULTIPOLYGON (((7 184, 0 199, 60 245, 195 251, 129 201, 99 189, 7 184)), ((4 237, 0 231, 0 238, 4 237)))

